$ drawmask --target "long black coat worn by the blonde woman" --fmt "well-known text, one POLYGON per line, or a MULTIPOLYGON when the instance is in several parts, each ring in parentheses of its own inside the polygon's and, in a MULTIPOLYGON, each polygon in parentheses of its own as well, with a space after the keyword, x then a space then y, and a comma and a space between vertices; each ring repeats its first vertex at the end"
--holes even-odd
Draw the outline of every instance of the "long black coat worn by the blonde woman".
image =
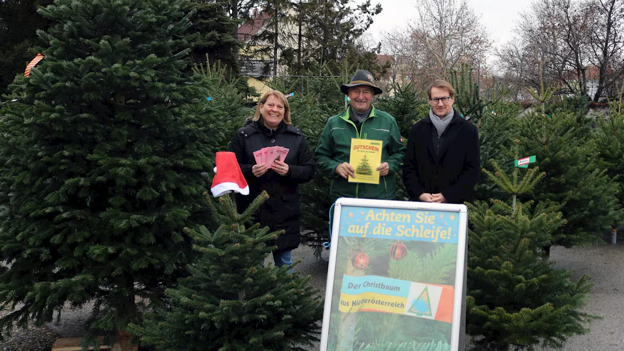
POLYGON ((285 230, 284 234, 267 245, 276 245, 276 252, 296 249, 300 242, 299 184, 308 182, 314 176, 314 159, 308 142, 300 129, 281 122, 277 132, 271 134, 260 121, 248 121, 245 127, 236 131, 230 144, 230 151, 236 154, 240 169, 249 185, 249 195, 236 195, 238 212, 243 212, 263 190, 269 198, 255 214, 262 227, 271 231, 285 230), (256 177, 251 167, 256 164, 253 152, 263 147, 282 146, 289 149, 286 159, 288 173, 281 176, 269 169, 256 177))

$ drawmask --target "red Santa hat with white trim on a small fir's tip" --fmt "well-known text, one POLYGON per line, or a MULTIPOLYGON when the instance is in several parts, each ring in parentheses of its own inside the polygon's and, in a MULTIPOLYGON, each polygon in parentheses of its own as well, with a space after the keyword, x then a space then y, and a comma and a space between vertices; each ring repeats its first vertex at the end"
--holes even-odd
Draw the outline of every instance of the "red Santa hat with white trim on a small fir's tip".
POLYGON ((220 197, 233 191, 249 195, 249 185, 243 177, 243 172, 240 171, 234 152, 217 152, 216 164, 215 172, 217 174, 212 179, 212 187, 210 187, 214 197, 220 197))

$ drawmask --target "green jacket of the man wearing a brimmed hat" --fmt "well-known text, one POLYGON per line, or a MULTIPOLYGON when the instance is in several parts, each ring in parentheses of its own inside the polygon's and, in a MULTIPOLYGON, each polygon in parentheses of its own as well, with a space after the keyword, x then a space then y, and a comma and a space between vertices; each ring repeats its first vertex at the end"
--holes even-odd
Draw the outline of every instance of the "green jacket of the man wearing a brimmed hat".
MULTIPOLYGON (((405 157, 405 146, 403 146, 396 120, 390 114, 378 111, 373 106, 371 114, 362 122, 359 133, 355 124, 349 119, 349 109, 329 117, 314 154, 316 154, 318 172, 333 179, 329 193, 332 200, 338 197, 394 199, 396 195, 394 173, 401 169, 405 157), (336 166, 349 162, 352 138, 383 141, 381 162, 388 162, 390 171, 388 175, 380 177, 379 184, 349 183, 348 180, 334 173, 336 166)), ((371 166, 377 168, 379 165, 371 166)))

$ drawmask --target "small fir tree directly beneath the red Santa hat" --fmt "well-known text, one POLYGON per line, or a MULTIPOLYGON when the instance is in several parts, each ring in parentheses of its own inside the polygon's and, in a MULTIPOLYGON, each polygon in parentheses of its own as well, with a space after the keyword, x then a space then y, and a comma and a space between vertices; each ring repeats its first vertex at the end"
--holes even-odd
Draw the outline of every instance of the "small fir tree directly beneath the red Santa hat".
POLYGON ((208 203, 220 224, 187 229, 201 257, 190 265, 191 275, 168 289, 169 306, 133 326, 142 341, 160 351, 180 350, 305 350, 319 334, 321 299, 309 278, 290 267, 263 267, 271 247, 259 224, 247 225, 268 195, 263 192, 238 214, 230 197, 208 203))

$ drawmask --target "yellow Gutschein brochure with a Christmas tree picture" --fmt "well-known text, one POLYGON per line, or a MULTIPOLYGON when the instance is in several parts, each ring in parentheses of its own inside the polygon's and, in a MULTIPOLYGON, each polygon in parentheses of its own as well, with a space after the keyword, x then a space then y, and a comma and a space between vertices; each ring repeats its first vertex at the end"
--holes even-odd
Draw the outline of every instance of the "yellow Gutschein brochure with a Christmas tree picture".
POLYGON ((349 176, 349 182, 379 184, 381 147, 383 141, 369 139, 351 139, 351 157, 349 164, 355 169, 355 178, 349 176))

